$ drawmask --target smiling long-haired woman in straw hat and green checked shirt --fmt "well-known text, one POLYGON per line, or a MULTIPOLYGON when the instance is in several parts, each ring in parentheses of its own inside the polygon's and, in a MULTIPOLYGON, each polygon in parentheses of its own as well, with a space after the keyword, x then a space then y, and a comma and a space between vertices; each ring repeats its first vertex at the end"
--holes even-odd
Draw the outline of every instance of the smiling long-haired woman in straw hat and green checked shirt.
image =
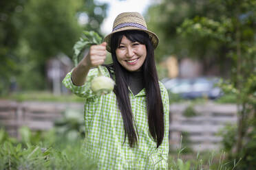
POLYGON ((137 12, 116 17, 111 34, 90 47, 63 83, 85 98, 85 154, 99 169, 167 169, 169 97, 158 82, 154 49, 158 36, 137 12), (106 49, 113 64, 104 66, 114 91, 97 97, 90 89, 106 49))

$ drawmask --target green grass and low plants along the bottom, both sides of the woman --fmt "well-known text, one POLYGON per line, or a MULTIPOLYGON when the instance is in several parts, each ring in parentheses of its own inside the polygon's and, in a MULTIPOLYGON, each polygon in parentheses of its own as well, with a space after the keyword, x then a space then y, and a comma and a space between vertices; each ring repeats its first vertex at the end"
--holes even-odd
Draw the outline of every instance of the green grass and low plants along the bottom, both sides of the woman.
MULTIPOLYGON (((78 137, 62 138, 54 131, 45 132, 45 136, 33 133, 21 134, 21 141, 10 138, 0 130, 0 169, 96 169, 96 162, 81 151, 83 139, 78 137)), ((238 162, 226 162, 224 151, 204 151, 202 153, 183 154, 180 147, 169 155, 171 170, 233 170, 238 162)))

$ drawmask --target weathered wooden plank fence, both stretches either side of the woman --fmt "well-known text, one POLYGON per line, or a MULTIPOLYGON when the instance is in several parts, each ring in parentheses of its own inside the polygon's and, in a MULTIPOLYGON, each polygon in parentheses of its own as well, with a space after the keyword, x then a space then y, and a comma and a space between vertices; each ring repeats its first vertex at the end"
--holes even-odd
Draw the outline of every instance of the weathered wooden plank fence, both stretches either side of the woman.
MULTIPOLYGON (((180 145, 182 132, 187 132, 190 147, 195 150, 217 149, 222 140, 217 136, 226 123, 236 123, 237 108, 233 104, 214 104, 207 102, 193 108, 196 115, 184 116, 189 104, 172 104, 170 106, 169 143, 173 148, 180 145)), ((31 130, 50 130, 54 121, 63 117, 67 109, 81 110, 81 103, 58 102, 15 102, 0 101, 0 125, 3 125, 10 136, 19 137, 18 129, 22 125, 31 130)))

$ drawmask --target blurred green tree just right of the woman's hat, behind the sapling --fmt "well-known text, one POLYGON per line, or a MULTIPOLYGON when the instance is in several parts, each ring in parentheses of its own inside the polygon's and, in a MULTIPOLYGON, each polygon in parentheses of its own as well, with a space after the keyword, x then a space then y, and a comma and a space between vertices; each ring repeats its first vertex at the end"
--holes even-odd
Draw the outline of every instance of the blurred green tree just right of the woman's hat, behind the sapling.
POLYGON ((221 5, 203 0, 163 0, 152 5, 146 19, 149 29, 156 31, 160 38, 160 44, 156 49, 157 60, 160 61, 170 55, 178 58, 197 58, 204 63, 204 73, 216 64, 220 65, 221 73, 226 73, 230 58, 226 56, 224 43, 209 40, 207 37, 182 37, 177 30, 185 19, 206 16, 218 20, 221 18, 222 10, 221 5))

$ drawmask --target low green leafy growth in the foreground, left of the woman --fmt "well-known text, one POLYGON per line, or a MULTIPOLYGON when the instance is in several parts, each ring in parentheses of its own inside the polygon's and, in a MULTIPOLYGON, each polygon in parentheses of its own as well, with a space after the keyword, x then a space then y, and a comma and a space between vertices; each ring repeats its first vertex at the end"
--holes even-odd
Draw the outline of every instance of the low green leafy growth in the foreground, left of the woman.
POLYGON ((19 132, 18 142, 0 130, 0 169, 96 169, 96 162, 81 151, 82 139, 60 143, 52 132, 53 135, 46 133, 46 136, 43 132, 33 134, 27 127, 19 132), (46 142, 49 140, 52 142, 46 142))

